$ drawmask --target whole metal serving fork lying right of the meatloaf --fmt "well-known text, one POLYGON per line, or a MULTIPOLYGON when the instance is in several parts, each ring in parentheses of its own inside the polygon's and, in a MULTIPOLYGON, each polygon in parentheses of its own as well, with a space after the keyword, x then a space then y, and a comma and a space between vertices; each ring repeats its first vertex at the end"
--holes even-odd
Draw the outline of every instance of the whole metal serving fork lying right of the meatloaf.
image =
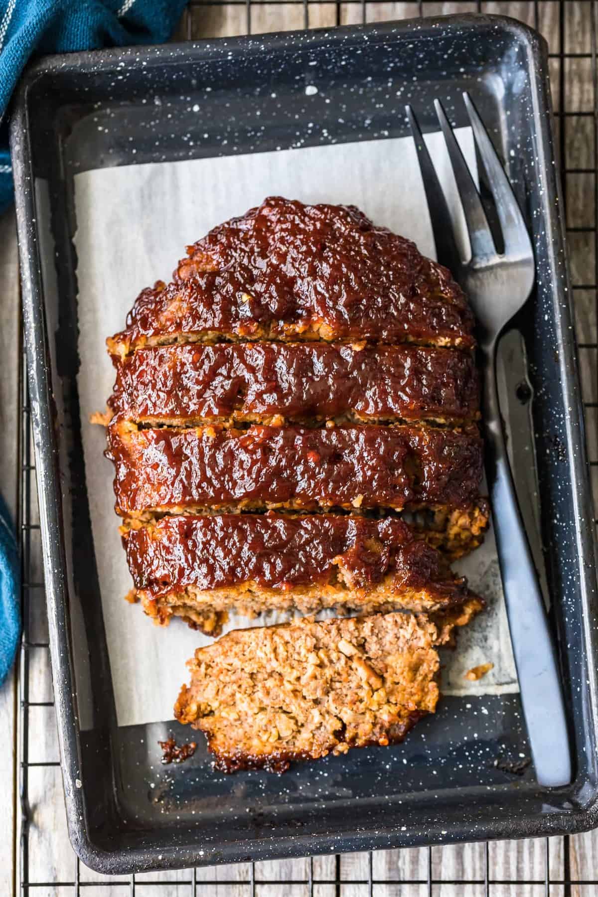
POLYGON ((450 268, 464 288, 478 321, 486 474, 521 702, 538 782, 542 786, 557 787, 571 780, 567 718, 542 591, 508 462, 496 378, 498 338, 532 292, 533 249, 507 175, 467 93, 464 102, 490 183, 505 247, 498 254, 471 172, 445 111, 440 101, 435 100, 469 231, 472 255, 468 260, 455 248, 442 187, 411 106, 406 110, 418 152, 438 260, 450 268))

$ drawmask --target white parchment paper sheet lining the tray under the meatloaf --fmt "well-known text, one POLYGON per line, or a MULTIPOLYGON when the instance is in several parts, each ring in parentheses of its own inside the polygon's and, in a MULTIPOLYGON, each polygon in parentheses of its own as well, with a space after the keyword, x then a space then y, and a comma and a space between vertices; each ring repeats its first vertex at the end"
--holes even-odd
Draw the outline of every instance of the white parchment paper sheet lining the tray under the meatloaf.
MULTIPOLYGON (((475 169, 470 128, 459 142, 475 169)), ((455 227, 466 239, 446 149, 429 135, 429 150, 446 188, 455 227)), ((125 324, 137 293, 154 280, 168 280, 185 246, 216 224, 259 205, 265 196, 308 203, 358 205, 377 224, 414 239, 434 256, 420 170, 411 138, 336 144, 195 161, 161 162, 94 170, 75 182, 79 286, 78 377, 83 450, 91 524, 100 575, 102 611, 121 726, 172 718, 173 703, 186 681, 185 661, 211 640, 173 620, 160 628, 139 606, 124 600, 131 588, 114 513, 113 470, 102 457, 105 433, 88 424, 102 411, 114 382, 104 340, 125 324)), ((444 652, 443 691, 452 694, 516 692, 516 671, 508 637, 498 561, 490 533, 484 545, 461 563, 488 609, 459 633, 455 652, 444 652), (472 666, 494 664, 483 679, 469 683, 472 666)), ((273 622, 231 619, 228 629, 273 622)))

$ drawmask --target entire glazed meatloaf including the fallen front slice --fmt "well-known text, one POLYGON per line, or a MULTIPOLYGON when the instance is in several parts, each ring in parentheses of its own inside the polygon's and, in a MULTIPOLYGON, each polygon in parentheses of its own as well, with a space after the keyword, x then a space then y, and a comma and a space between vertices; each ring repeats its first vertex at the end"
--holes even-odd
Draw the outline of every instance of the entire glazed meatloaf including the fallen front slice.
POLYGON ((435 710, 436 646, 482 606, 450 567, 489 522, 473 323, 410 240, 271 197, 108 339, 129 600, 212 636, 308 614, 190 661, 176 714, 220 769, 387 745, 435 710))

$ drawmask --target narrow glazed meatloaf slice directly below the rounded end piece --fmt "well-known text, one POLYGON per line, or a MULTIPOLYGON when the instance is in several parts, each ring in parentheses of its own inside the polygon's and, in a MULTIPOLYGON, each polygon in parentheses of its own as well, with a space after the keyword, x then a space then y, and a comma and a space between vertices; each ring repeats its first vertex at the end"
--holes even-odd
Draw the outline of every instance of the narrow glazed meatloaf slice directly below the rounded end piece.
POLYGON ((124 420, 193 425, 479 416, 472 353, 422 346, 172 345, 117 367, 108 405, 124 420))

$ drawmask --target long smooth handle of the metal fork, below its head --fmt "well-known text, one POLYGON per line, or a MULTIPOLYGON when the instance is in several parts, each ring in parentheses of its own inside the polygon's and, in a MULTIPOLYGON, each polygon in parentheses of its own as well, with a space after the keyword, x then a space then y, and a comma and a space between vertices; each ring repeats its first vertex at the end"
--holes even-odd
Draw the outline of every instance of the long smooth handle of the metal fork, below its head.
POLYGON ((559 666, 508 462, 498 405, 496 344, 482 353, 486 472, 521 703, 538 783, 556 788, 571 781, 559 666))

